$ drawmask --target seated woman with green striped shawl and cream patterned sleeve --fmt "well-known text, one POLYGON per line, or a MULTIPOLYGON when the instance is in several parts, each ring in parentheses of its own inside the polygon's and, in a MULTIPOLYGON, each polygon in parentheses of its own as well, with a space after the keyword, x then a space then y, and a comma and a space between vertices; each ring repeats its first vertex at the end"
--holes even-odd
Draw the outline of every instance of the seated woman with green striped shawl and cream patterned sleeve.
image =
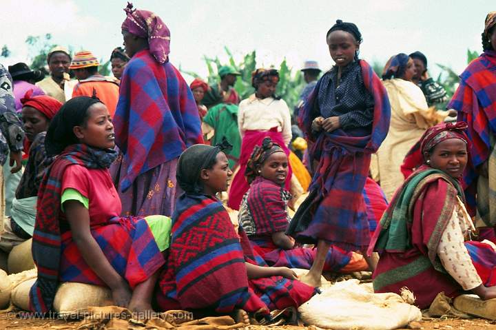
POLYGON ((421 309, 437 293, 455 297, 472 291, 496 298, 495 271, 480 259, 496 260, 485 243, 467 242, 474 229, 459 178, 468 160, 466 123, 442 123, 422 136, 424 165, 397 190, 369 247, 380 253, 373 274, 375 292, 400 293, 408 287, 421 309), (471 260, 472 256, 472 260, 471 260))

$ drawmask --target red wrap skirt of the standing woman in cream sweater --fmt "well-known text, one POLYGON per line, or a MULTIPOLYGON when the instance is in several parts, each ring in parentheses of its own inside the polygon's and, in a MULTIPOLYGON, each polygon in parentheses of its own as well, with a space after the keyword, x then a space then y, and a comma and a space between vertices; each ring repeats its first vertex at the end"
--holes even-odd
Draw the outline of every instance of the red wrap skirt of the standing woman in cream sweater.
MULTIPOLYGON (((262 141, 266 137, 269 137, 273 142, 278 143, 286 155, 289 156, 289 149, 285 145, 284 140, 282 139, 282 134, 278 132, 277 127, 272 127, 268 131, 247 130, 241 143, 241 154, 239 161, 240 168, 234 176, 231 187, 229 188, 229 200, 227 202, 227 206, 231 209, 239 209, 242 196, 245 195, 249 189, 248 182, 245 178, 248 159, 250 158, 255 146, 262 145, 262 141)), ((288 167, 289 171, 285 185, 287 190, 289 190, 291 175, 293 175, 291 165, 288 165, 288 167)))

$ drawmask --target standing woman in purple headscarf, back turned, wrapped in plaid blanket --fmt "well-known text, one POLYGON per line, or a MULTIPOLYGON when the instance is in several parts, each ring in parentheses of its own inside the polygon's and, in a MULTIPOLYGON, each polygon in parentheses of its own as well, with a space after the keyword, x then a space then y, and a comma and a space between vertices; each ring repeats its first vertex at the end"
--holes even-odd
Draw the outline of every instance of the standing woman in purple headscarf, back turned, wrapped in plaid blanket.
POLYGON ((170 32, 147 10, 125 8, 127 63, 114 125, 122 157, 112 172, 123 214, 171 216, 176 165, 189 145, 203 143, 198 108, 189 86, 169 62, 170 32))

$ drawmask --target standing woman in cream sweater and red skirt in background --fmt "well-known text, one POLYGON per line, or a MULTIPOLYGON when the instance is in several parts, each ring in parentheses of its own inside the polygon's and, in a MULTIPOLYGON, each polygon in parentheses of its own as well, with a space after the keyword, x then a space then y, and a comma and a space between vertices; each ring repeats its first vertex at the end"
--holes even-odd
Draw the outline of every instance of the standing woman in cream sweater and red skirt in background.
MULTIPOLYGON (((238 129, 242 138, 240 169, 234 176, 229 189, 227 206, 231 209, 239 209, 242 196, 248 191, 245 169, 248 158, 256 145, 260 145, 262 140, 269 136, 289 155, 287 145, 291 142, 292 136, 291 115, 286 102, 274 94, 278 82, 277 70, 257 69, 251 75, 251 85, 255 88, 255 94, 240 103, 238 110, 238 129)), ((285 181, 287 189, 289 189, 291 175, 291 169, 289 169, 285 181)))

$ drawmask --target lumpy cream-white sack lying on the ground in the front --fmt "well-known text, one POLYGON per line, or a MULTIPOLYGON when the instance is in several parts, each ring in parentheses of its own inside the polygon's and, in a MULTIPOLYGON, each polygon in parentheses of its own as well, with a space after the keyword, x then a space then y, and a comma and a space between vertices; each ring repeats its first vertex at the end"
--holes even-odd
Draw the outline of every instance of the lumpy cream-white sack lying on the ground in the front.
POLYGON ((373 293, 371 285, 359 285, 358 280, 322 287, 322 293, 298 311, 305 324, 334 330, 398 329, 422 320, 420 309, 407 304, 396 293, 373 293))

